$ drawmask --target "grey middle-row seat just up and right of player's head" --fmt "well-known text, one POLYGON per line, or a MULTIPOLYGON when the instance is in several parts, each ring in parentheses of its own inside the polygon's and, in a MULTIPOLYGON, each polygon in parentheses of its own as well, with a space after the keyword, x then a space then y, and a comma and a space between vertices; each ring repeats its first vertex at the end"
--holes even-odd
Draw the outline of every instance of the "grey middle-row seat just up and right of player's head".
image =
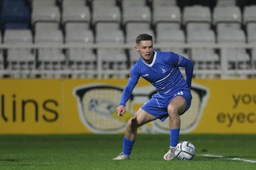
POLYGON ((180 29, 181 12, 178 6, 158 6, 153 13, 152 24, 158 29, 158 24, 168 23, 173 29, 180 29))

